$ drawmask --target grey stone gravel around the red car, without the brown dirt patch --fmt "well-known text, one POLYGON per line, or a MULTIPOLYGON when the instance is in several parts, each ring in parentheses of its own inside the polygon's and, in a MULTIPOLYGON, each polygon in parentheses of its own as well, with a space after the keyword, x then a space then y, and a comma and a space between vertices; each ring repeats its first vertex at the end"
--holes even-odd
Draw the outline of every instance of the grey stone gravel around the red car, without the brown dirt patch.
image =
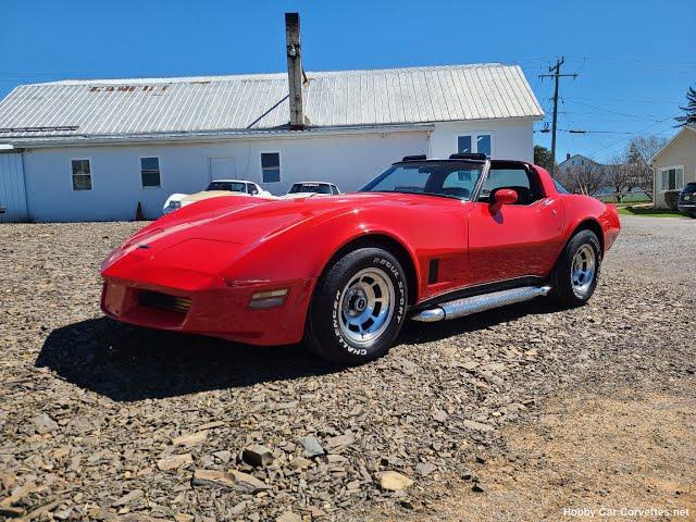
POLYGON ((588 306, 408 324, 387 357, 346 370, 299 346, 104 319, 99 263, 137 224, 1 225, 0 518, 425 513, 549 397, 593 382, 694 389, 696 222, 623 226, 588 306))

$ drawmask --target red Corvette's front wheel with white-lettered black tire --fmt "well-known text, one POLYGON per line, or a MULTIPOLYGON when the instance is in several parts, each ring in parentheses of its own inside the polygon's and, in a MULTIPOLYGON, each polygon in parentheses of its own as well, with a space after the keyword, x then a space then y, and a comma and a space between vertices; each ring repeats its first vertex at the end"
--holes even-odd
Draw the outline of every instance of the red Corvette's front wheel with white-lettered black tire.
POLYGON ((330 266, 316 283, 304 343, 313 353, 332 362, 371 361, 389 350, 406 319, 407 306, 406 274, 399 261, 381 248, 353 250, 330 266), (375 330, 361 334, 361 327, 375 330))

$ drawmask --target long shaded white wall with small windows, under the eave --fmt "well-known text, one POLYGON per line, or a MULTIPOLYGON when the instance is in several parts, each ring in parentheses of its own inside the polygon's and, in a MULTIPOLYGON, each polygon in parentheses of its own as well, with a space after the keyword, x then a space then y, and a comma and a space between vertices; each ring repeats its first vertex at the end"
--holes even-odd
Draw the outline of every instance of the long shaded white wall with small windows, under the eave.
POLYGON ((35 221, 132 220, 138 201, 149 219, 174 192, 197 192, 209 181, 209 158, 234 157, 238 178, 285 194, 298 181, 359 188, 394 161, 426 153, 427 132, 229 140, 207 144, 64 147, 25 153, 28 204, 35 221), (281 183, 261 183, 261 152, 281 153, 281 183), (139 158, 160 158, 161 188, 141 188, 139 158), (71 158, 89 158, 92 189, 73 191, 71 158))

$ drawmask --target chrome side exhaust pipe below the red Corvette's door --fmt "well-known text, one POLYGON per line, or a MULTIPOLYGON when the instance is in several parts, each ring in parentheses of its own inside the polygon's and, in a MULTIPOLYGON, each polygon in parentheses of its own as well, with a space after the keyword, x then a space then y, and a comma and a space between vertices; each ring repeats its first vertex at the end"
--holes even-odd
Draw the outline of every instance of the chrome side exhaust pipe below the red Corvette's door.
POLYGON ((550 286, 523 286, 521 288, 482 294, 481 296, 464 297, 453 301, 442 302, 419 312, 411 319, 423 323, 434 323, 448 319, 463 318, 472 313, 529 301, 536 297, 545 296, 550 290, 550 286))

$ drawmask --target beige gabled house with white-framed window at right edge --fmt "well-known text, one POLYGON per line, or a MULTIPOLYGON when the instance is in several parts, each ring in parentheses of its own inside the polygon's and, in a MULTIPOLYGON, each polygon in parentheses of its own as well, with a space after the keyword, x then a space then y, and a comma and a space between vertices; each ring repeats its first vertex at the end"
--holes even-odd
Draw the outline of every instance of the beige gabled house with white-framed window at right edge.
POLYGON ((650 160, 655 206, 666 208, 664 192, 696 182, 696 126, 686 125, 650 160))

